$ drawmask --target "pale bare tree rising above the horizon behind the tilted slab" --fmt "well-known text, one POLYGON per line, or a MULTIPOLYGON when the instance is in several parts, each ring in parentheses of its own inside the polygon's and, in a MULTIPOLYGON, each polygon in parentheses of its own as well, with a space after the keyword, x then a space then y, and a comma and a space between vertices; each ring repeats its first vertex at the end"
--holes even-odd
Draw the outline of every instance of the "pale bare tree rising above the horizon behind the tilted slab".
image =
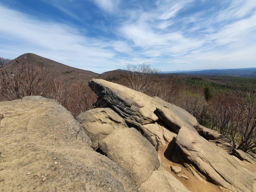
POLYGON ((154 86, 154 81, 158 78, 159 69, 152 69, 150 64, 127 64, 126 79, 128 81, 128 87, 139 92, 145 92, 149 88, 154 86))

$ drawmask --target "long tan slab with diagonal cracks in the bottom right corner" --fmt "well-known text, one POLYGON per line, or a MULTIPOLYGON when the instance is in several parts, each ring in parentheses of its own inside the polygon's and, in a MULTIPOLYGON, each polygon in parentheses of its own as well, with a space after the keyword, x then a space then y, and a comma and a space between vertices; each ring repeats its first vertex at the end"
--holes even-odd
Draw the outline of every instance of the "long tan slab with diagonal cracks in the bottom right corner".
POLYGON ((182 127, 176 144, 192 172, 196 171, 225 188, 231 184, 240 191, 256 190, 255 173, 245 169, 233 156, 203 139, 197 132, 182 127))

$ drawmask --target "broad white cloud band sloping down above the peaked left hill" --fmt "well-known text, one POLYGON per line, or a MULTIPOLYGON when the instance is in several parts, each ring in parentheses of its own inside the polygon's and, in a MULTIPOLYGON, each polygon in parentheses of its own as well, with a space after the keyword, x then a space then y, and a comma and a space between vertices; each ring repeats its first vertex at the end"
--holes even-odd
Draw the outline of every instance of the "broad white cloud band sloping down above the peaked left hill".
POLYGON ((8 56, 14 52, 18 56, 33 52, 64 64, 72 61, 68 65, 95 72, 99 71, 95 66, 106 61, 113 64, 111 59, 116 53, 101 48, 106 43, 104 40, 89 39, 72 27, 40 22, 4 7, 0 7, 0 12, 3 14, 0 23, 4 26, 0 30, 1 40, 12 39, 12 44, 2 47, 2 54, 7 53, 8 56))

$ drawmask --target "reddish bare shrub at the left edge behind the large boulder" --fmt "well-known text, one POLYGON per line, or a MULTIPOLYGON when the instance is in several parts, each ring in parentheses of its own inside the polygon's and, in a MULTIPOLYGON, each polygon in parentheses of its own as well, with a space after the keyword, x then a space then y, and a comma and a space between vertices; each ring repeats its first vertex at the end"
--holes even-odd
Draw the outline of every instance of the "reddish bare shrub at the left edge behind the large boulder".
POLYGON ((0 68, 0 94, 7 100, 20 99, 25 96, 47 96, 53 77, 42 63, 22 65, 2 65, 0 68))

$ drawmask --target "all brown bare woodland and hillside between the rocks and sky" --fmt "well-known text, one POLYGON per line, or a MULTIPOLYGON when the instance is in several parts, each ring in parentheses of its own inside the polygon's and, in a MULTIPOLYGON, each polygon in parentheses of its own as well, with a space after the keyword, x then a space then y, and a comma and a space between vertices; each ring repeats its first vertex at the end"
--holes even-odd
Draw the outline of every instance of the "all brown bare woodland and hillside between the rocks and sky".
POLYGON ((236 149, 250 152, 256 147, 256 90, 253 83, 240 83, 242 78, 230 78, 233 87, 229 89, 229 82, 225 84, 223 77, 217 83, 218 78, 214 77, 208 81, 200 76, 163 75, 149 64, 127 65, 124 72, 110 71, 99 76, 31 53, 2 65, 0 75, 0 101, 40 95, 57 100, 76 117, 93 108, 97 96, 88 81, 101 78, 184 108, 200 124, 228 136, 236 149), (239 83, 234 84, 236 81, 239 83), (207 84, 212 97, 206 100, 207 84))

